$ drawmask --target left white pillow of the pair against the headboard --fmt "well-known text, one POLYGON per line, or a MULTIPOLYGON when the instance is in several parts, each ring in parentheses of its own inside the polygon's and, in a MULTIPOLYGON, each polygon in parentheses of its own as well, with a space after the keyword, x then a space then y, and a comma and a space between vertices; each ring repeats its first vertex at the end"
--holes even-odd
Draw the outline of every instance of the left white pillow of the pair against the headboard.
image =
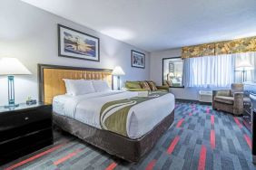
POLYGON ((72 96, 95 92, 92 80, 64 80, 67 94, 72 96))

